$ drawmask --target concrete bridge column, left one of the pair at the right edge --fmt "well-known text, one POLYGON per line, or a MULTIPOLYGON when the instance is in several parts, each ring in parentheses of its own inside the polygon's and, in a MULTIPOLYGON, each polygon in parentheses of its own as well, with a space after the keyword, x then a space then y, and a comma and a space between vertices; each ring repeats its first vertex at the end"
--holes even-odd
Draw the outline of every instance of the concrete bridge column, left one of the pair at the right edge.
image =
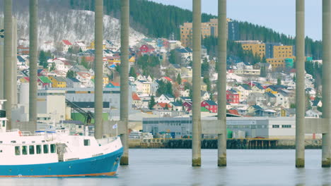
POLYGON ((305 167, 305 0, 296 0, 296 167, 305 167))

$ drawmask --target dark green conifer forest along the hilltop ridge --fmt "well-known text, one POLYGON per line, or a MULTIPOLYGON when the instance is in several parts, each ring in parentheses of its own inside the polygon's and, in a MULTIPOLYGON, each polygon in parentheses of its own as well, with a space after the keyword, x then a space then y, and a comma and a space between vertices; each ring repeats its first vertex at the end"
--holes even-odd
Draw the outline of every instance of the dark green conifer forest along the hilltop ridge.
MULTIPOLYGON (((104 0, 105 13, 115 18, 120 17, 120 0, 104 0)), ((180 39, 179 27, 182 23, 192 21, 192 11, 176 6, 165 6, 152 1, 130 0, 130 16, 132 26, 150 37, 165 37, 180 39)), ((74 9, 94 10, 94 0, 70 0, 70 7, 74 9)), ((202 14, 202 21, 208 21, 216 16, 202 14)), ((238 22, 240 39, 261 40, 263 42, 281 42, 295 44, 294 38, 248 22, 238 22)), ((322 57, 322 43, 306 38, 306 55, 314 59, 322 57)))

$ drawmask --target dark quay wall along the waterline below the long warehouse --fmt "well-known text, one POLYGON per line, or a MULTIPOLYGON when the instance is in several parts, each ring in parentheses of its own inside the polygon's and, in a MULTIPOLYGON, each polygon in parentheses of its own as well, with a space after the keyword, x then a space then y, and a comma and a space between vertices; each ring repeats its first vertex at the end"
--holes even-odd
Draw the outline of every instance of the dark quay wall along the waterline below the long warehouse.
MULTIPOLYGON (((227 149, 295 149, 295 140, 228 139, 227 149)), ((202 149, 217 149, 216 139, 202 140, 202 149)), ((320 149, 322 140, 305 140, 306 149, 320 149)), ((192 139, 129 140, 132 149, 191 149, 192 139)))

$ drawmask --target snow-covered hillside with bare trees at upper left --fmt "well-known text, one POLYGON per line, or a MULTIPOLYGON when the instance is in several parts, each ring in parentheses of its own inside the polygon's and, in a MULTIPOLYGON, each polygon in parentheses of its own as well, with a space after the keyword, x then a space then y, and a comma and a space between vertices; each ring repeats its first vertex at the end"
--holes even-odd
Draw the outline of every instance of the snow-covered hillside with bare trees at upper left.
MULTIPOLYGON (((18 38, 29 39, 28 11, 16 12, 18 19, 18 38)), ((120 42, 120 20, 104 16, 104 39, 120 42)), ((42 11, 39 13, 39 43, 40 49, 54 50, 62 39, 70 42, 94 40, 94 12, 92 11, 42 11)), ((140 32, 130 30, 130 45, 139 42, 145 36, 140 32)))

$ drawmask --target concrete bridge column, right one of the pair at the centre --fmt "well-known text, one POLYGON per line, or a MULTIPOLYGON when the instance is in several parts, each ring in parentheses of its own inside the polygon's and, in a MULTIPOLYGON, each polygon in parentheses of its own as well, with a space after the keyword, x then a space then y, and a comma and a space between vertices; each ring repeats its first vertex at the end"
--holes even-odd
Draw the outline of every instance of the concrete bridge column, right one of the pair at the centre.
POLYGON ((226 0, 219 0, 219 60, 217 80, 218 120, 221 128, 218 141, 218 166, 226 166, 226 0))

